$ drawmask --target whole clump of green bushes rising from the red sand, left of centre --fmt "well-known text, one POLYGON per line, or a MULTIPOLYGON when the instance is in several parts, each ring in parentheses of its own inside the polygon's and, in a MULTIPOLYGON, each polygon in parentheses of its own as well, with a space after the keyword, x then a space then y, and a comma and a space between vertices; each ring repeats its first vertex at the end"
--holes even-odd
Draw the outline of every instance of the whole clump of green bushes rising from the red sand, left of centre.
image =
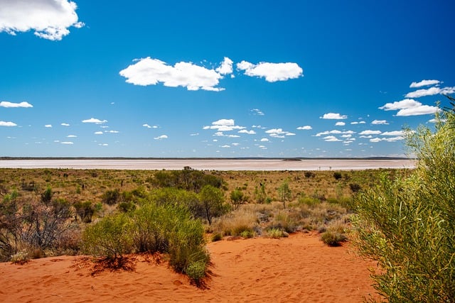
POLYGON ((106 216, 82 234, 85 253, 108 259, 127 253, 167 253, 171 267, 200 285, 208 273, 203 224, 181 205, 148 202, 124 214, 106 216))

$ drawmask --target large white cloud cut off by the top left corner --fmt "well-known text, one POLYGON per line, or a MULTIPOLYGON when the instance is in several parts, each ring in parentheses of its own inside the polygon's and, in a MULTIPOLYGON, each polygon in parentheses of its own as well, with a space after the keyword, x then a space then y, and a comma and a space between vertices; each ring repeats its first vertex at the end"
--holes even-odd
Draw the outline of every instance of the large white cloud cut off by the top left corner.
POLYGON ((10 35, 35 31, 35 35, 48 40, 62 40, 74 26, 85 24, 77 21, 77 5, 67 0, 9 0, 1 1, 0 32, 10 35))

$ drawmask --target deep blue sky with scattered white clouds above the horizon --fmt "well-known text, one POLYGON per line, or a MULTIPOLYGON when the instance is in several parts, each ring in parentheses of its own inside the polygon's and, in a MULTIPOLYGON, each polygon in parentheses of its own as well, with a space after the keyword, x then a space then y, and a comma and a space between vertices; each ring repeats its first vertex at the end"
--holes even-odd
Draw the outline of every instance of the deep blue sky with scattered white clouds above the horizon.
POLYGON ((455 92, 454 1, 0 0, 0 156, 372 157, 455 92))

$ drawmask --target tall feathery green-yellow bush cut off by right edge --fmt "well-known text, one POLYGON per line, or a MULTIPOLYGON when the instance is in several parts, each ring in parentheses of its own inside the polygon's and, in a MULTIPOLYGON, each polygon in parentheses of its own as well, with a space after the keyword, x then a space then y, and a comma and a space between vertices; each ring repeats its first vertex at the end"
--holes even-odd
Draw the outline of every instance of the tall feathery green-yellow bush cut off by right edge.
POLYGON ((356 201, 358 248, 378 260, 374 287, 389 302, 454 302, 455 116, 440 118, 435 133, 409 135, 410 177, 383 177, 356 201))

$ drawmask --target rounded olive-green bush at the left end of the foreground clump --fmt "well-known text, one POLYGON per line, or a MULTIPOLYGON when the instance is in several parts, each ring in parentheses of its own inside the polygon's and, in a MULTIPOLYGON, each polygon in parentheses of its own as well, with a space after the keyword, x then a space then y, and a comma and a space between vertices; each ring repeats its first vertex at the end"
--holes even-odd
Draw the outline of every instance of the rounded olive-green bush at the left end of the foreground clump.
POLYGON ((84 253, 108 259, 132 252, 131 221, 126 214, 105 216, 82 233, 84 253))

